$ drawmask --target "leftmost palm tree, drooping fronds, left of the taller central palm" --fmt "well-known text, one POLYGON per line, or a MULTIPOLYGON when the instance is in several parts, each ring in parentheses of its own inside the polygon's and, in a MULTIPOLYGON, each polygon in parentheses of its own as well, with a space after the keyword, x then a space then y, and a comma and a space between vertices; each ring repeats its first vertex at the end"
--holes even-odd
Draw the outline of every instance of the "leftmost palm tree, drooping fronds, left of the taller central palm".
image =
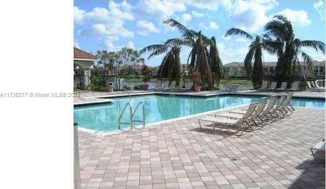
POLYGON ((152 52, 148 59, 166 53, 158 68, 157 75, 162 78, 174 78, 176 81, 180 80, 180 50, 181 47, 168 44, 149 45, 139 51, 140 54, 145 52, 152 52))

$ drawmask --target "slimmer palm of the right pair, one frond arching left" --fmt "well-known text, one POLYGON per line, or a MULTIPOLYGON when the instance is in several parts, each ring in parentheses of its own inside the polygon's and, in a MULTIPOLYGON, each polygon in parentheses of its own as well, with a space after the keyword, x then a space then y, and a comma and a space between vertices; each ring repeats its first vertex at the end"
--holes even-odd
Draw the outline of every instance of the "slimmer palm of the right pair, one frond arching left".
MULTIPOLYGON (((246 31, 243 31, 239 28, 231 28, 227 30, 225 37, 232 35, 240 35, 250 40, 253 40, 254 37, 248 34, 246 31)), ((262 48, 264 47, 262 37, 256 35, 254 41, 249 45, 249 51, 244 58, 244 70, 246 70, 247 77, 251 75, 254 88, 261 86, 263 79, 263 65, 262 65, 262 48), (251 68, 251 62, 254 59, 254 69, 251 68), (252 72, 252 73, 251 73, 252 72)))

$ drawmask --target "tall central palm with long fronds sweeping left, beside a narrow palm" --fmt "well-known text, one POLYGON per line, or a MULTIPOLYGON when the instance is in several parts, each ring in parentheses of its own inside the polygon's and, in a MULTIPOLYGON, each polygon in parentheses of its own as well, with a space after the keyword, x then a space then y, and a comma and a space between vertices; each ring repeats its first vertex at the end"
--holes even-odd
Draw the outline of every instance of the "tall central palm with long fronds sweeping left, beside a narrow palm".
POLYGON ((166 44, 191 47, 192 50, 187 60, 189 70, 191 72, 199 72, 202 76, 207 76, 208 85, 211 87, 212 72, 209 65, 210 56, 207 47, 214 44, 213 41, 202 35, 201 31, 196 32, 193 29, 189 29, 172 18, 165 20, 164 23, 178 29, 181 33, 181 38, 169 39, 166 44))

